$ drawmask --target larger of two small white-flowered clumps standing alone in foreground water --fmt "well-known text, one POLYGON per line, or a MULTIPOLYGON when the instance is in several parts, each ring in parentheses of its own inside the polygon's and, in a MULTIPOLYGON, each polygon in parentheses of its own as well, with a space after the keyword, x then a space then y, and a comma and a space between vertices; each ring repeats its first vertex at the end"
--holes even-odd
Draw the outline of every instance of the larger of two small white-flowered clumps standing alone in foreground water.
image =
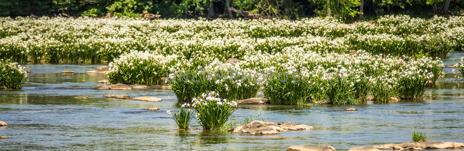
POLYGON ((206 92, 199 98, 193 98, 198 122, 204 129, 219 130, 235 111, 237 103, 219 97, 214 91, 206 92))

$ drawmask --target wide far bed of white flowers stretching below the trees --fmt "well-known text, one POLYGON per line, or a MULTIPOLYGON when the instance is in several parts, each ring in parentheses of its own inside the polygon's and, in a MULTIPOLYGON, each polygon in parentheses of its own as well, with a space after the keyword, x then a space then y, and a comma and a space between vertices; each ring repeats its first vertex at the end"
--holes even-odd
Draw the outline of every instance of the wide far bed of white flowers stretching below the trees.
POLYGON ((384 16, 376 24, 344 24, 335 18, 295 21, 0 18, 0 58, 20 58, 20 62, 28 57, 100 62, 123 53, 152 51, 187 55, 187 60, 214 54, 222 60, 239 58, 246 52, 277 53, 296 45, 316 52, 365 49, 387 54, 395 53, 388 50, 394 48, 399 55, 421 51, 445 55, 462 50, 463 20, 462 16, 421 19, 406 15, 384 16))

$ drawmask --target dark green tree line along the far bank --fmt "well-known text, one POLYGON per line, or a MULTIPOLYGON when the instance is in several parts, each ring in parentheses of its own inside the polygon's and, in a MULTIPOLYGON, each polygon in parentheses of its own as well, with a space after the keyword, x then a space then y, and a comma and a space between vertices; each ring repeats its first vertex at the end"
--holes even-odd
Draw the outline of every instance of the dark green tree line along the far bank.
POLYGON ((464 14, 464 0, 0 0, 1 16, 240 17, 230 8, 266 18, 365 18, 385 14, 464 14))

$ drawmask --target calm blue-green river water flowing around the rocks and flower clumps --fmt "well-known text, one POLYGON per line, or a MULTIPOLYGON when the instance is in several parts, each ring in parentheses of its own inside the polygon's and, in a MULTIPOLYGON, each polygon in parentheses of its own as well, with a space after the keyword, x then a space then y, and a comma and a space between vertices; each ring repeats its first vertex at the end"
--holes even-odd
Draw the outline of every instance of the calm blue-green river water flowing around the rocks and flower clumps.
MULTIPOLYGON (((463 53, 444 58, 454 64, 463 53)), ((95 90, 103 74, 86 71, 102 65, 25 65, 32 69, 20 90, 0 91, 0 150, 285 150, 291 145, 331 145, 337 150, 411 141, 413 131, 429 141, 464 142, 464 84, 453 74, 429 88, 424 101, 369 102, 363 105, 241 105, 232 114, 241 121, 260 115, 265 121, 316 127, 279 135, 243 136, 203 130, 178 131, 166 111, 179 107, 170 90, 95 90), (74 74, 62 74, 72 70, 74 74), (162 102, 105 98, 119 94, 154 96, 162 102), (427 94, 432 95, 432 94, 427 94), (74 97, 90 97, 77 99, 74 97), (159 107, 158 111, 144 109, 159 107), (347 108, 350 112, 332 112, 347 108), (26 120, 26 121, 22 121, 26 120), (27 121, 30 120, 30 121, 27 121)), ((451 72, 452 68, 445 68, 451 72)), ((191 127, 196 127, 195 121, 191 127)), ((200 127, 201 129, 201 127, 200 127)))

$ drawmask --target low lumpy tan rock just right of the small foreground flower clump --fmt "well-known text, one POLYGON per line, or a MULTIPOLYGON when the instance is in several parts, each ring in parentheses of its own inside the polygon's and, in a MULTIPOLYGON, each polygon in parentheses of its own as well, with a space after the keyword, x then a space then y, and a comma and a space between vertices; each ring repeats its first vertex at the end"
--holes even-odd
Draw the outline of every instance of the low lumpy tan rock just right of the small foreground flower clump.
POLYGON ((275 135, 280 134, 283 131, 299 131, 299 130, 310 130, 313 127, 307 125, 295 125, 291 122, 287 123, 273 123, 264 121, 251 121, 248 124, 242 124, 233 129, 234 133, 240 133, 245 135, 275 135))

